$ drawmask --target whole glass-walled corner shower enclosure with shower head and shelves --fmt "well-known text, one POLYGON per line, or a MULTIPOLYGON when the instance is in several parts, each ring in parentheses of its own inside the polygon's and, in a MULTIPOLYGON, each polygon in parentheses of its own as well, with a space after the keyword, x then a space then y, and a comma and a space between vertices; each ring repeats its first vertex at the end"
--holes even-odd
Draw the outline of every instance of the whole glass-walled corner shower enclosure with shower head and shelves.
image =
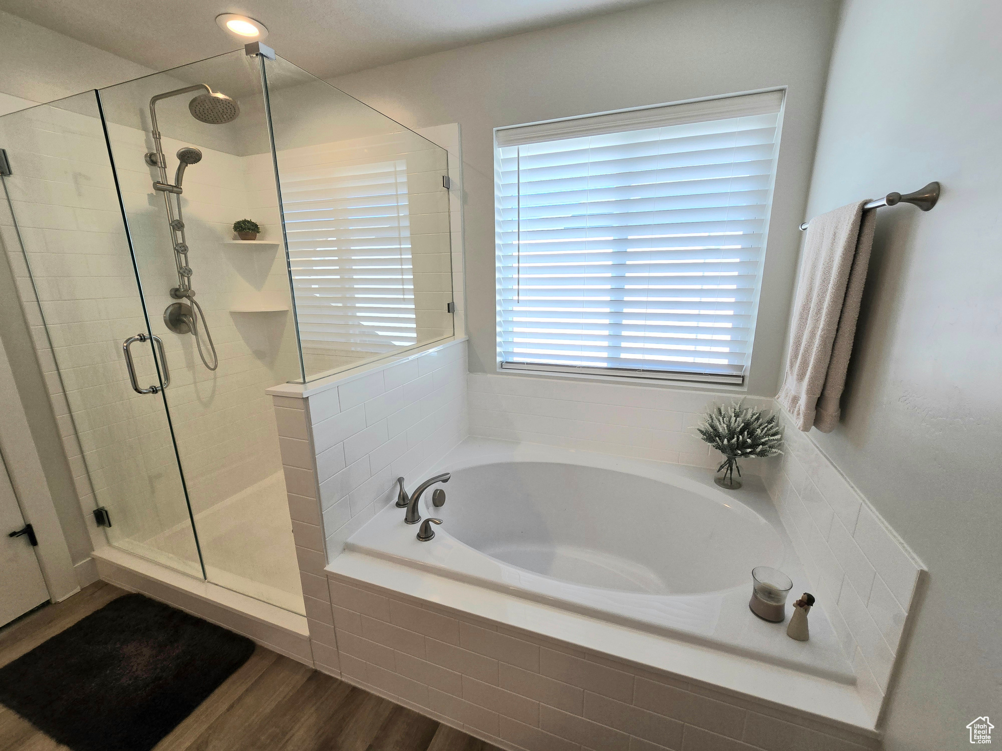
POLYGON ((0 117, 0 148, 95 534, 303 614, 266 389, 453 334, 446 151, 243 50, 0 117))

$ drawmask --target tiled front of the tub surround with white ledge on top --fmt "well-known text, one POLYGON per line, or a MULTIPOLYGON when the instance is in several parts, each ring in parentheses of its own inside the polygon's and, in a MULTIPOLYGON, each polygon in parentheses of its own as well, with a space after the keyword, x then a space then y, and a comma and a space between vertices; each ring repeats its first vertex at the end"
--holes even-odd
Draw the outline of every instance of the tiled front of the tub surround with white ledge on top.
POLYGON ((501 748, 879 747, 851 687, 357 553, 329 577, 344 680, 501 748), (791 709, 809 703, 851 721, 791 709))

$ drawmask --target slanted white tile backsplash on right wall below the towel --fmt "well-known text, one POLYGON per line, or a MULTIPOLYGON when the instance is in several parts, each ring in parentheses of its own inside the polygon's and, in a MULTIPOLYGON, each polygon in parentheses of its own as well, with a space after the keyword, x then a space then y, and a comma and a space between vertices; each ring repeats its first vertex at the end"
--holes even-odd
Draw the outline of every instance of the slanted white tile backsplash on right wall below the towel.
POLYGON ((782 415, 786 453, 771 461, 766 484, 876 717, 925 568, 810 434, 782 415))

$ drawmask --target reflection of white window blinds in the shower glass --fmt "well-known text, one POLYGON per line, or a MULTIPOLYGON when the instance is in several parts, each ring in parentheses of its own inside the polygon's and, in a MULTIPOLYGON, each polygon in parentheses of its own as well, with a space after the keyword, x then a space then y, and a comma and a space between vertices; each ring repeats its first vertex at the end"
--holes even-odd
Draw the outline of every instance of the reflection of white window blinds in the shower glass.
POLYGON ((298 149, 283 165, 304 351, 365 355, 412 345, 407 160, 360 160, 362 146, 337 145, 298 149))

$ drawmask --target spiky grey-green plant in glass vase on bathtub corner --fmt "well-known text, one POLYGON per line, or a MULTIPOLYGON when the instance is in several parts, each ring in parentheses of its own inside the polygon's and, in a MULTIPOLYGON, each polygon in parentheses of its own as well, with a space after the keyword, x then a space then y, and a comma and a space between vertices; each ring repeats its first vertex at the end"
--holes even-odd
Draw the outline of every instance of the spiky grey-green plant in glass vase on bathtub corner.
POLYGON ((710 405, 695 430, 705 443, 723 455, 713 482, 730 491, 741 487, 741 481, 734 480, 734 470, 737 477, 741 476, 738 459, 766 459, 783 454, 779 417, 744 407, 743 401, 732 402, 729 407, 710 405))

